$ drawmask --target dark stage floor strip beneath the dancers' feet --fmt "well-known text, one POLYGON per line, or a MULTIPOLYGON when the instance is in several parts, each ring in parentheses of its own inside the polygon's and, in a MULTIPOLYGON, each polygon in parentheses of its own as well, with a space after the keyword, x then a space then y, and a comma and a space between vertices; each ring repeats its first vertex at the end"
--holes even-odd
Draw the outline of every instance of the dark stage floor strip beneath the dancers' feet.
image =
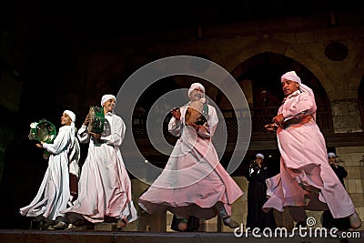
POLYGON ((67 231, 67 230, 17 230, 17 229, 0 229, 1 243, 234 243, 234 242, 350 242, 362 243, 364 239, 364 231, 348 231, 337 232, 333 238, 331 236, 324 237, 324 234, 315 235, 307 231, 306 237, 304 233, 296 233, 294 235, 278 234, 278 237, 253 236, 252 233, 244 233, 242 236, 236 236, 233 232, 229 233, 211 233, 211 232, 126 232, 126 231, 67 231), (301 234, 302 233, 302 234, 301 234), (342 233, 345 233, 343 235, 342 233))

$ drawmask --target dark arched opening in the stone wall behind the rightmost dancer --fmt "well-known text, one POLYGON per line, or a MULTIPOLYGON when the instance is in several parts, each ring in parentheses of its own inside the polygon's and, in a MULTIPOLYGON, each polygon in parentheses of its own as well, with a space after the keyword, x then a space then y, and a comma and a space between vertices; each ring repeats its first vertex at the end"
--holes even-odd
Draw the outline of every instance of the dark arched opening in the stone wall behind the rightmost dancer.
MULTIPOLYGON (((255 154, 260 151, 267 151, 272 155, 272 163, 278 164, 279 152, 277 147, 277 138, 274 134, 268 134, 264 126, 271 122, 271 119, 277 115, 278 107, 283 100, 283 93, 280 85, 280 76, 284 73, 294 70, 300 76, 302 83, 311 87, 315 93, 317 110, 317 123, 320 130, 325 133, 333 132, 332 113, 329 104, 329 97, 326 90, 319 82, 319 79, 297 61, 287 56, 275 53, 265 52, 257 56, 252 56, 246 61, 239 64, 232 72, 232 76, 238 81, 239 86, 244 91, 249 103, 249 109, 252 119, 252 136, 247 156, 243 163, 236 171, 237 175, 244 174, 248 163, 254 159, 255 154), (266 91, 268 101, 261 103, 262 91, 266 91)), ((264 93, 264 92, 263 92, 264 93)), ((217 105, 228 108, 227 98, 223 94, 217 95, 217 105)), ((221 107, 220 107, 221 108, 221 107)), ((233 113, 234 111, 232 111, 233 113)), ((225 117, 227 120, 227 130, 229 134, 237 134, 237 120, 234 117, 225 117)), ((225 155, 229 159, 229 152, 225 155)), ((224 163, 224 161, 222 161, 224 163)), ((277 170, 277 167, 273 168, 277 170)))

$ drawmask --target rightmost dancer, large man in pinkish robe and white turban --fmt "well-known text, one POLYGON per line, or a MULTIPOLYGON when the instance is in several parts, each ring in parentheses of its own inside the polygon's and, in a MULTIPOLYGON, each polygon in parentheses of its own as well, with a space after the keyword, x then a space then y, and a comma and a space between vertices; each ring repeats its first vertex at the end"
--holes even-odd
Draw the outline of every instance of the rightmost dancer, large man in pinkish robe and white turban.
POLYGON ((325 138, 316 124, 312 89, 294 71, 281 76, 285 99, 268 131, 277 129, 280 174, 266 180, 268 201, 263 210, 288 208, 298 225, 306 225, 306 211, 329 208, 333 218, 349 217, 352 228, 361 220, 348 192, 329 167, 325 138))

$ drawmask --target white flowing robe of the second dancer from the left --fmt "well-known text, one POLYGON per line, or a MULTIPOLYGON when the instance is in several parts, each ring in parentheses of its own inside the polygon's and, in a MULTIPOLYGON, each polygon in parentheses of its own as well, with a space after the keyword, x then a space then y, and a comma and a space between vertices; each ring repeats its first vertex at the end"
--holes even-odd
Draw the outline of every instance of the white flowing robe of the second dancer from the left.
POLYGON ((100 139, 91 137, 84 125, 78 130, 80 142, 89 143, 89 147, 78 182, 78 197, 64 213, 73 213, 72 217, 76 213, 92 223, 103 222, 105 217, 136 220, 131 181, 119 149, 125 132, 122 118, 110 112, 105 115, 100 139))

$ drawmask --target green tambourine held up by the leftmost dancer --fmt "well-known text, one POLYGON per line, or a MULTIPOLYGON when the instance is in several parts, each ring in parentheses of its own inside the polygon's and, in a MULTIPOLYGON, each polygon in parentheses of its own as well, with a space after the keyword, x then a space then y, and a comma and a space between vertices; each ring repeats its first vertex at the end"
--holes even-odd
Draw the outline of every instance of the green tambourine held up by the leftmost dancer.
POLYGON ((33 122, 30 124, 28 137, 30 140, 37 140, 38 142, 50 144, 56 138, 56 126, 45 119, 33 122))

